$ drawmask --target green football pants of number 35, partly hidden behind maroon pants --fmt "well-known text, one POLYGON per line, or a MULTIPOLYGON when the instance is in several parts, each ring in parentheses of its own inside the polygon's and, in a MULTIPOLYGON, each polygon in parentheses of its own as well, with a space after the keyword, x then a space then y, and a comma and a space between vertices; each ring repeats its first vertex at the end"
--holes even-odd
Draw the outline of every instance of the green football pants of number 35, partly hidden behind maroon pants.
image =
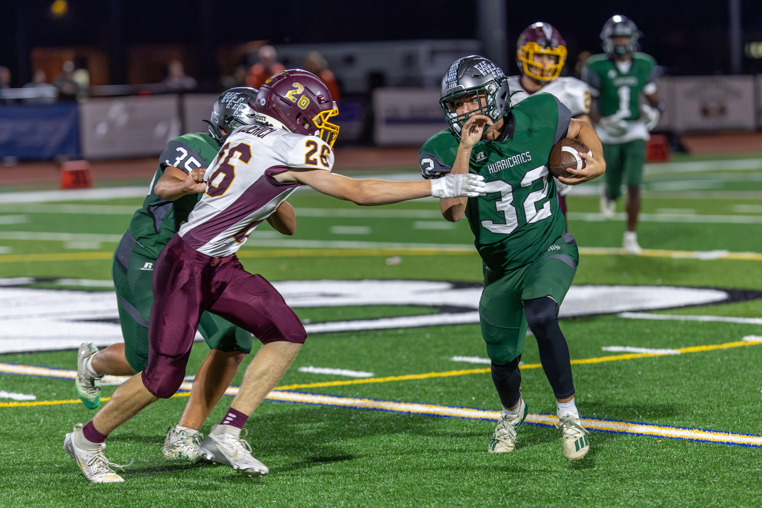
MULTIPOLYGON (((155 258, 125 235, 111 264, 117 291, 119 321, 124 337, 124 355, 135 372, 148 363, 148 321, 153 304, 151 278, 155 258), (131 246, 131 248, 130 248, 131 246)), ((251 334, 229 321, 204 312, 198 331, 210 349, 251 353, 251 334)))

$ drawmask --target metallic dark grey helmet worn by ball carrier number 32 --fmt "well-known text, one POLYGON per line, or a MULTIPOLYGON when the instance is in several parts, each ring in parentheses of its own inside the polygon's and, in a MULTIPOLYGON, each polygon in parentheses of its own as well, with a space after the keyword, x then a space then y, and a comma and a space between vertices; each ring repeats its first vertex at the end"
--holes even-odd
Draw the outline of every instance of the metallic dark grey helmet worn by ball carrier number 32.
POLYGON ((472 55, 458 59, 450 65, 450 70, 442 81, 439 106, 450 124, 453 136, 460 139, 460 129, 469 117, 486 115, 493 122, 497 122, 510 110, 510 105, 508 79, 503 69, 490 60, 472 55), (483 92, 483 98, 480 92, 483 92), (480 94, 479 109, 459 115, 455 109, 455 99, 471 94, 480 94))

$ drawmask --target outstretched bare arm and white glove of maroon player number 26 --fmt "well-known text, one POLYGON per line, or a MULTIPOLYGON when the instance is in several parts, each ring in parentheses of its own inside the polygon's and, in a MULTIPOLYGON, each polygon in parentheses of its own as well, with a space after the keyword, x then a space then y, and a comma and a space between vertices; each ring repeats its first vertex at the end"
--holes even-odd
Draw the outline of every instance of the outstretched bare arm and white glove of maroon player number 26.
POLYGON ((363 206, 388 205, 428 196, 477 196, 479 188, 484 185, 483 178, 478 175, 448 177, 440 178, 440 181, 414 182, 354 180, 320 169, 292 169, 274 175, 281 183, 309 185, 328 196, 363 206))

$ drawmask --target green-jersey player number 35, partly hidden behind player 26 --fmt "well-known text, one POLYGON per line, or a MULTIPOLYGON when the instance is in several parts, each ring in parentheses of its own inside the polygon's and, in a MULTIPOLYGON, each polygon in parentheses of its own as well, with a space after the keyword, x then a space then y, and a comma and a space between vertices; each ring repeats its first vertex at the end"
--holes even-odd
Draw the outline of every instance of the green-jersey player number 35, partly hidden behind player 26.
MULTIPOLYGON (((76 387, 86 407, 94 409, 100 404, 100 380, 104 375, 133 375, 145 369, 156 257, 206 190, 203 171, 217 155, 223 140, 236 126, 254 122, 249 102, 256 96, 254 88, 223 92, 213 106, 210 133, 189 133, 172 139, 159 158, 148 196, 114 252, 111 273, 124 342, 100 352, 92 343, 79 347, 76 387)), ((284 235, 293 235, 296 230, 293 208, 288 203, 283 203, 267 221, 284 235)), ((203 440, 198 429, 224 395, 246 354, 251 352, 251 334, 217 315, 204 312, 198 331, 211 350, 197 372, 180 422, 168 429, 163 448, 168 460, 198 459, 197 451, 203 440)))

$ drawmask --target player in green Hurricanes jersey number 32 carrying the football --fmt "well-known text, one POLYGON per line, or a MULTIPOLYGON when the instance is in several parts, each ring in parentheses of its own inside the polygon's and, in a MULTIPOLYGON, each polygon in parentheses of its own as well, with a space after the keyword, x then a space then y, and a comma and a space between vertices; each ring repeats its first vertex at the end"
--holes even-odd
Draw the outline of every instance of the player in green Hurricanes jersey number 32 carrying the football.
POLYGON ((603 174, 605 163, 593 128, 571 119, 552 94, 538 93, 510 106, 502 70, 481 56, 450 66, 440 106, 449 130, 421 147, 424 178, 480 174, 486 196, 440 200, 445 219, 465 214, 482 257, 484 285, 479 303, 482 337, 491 359, 503 411, 489 440, 489 452, 511 452, 516 430, 527 416, 521 396, 519 362, 527 324, 539 347, 543 369, 555 395, 565 458, 582 458, 590 449, 575 406, 575 388, 559 305, 574 279, 578 250, 565 233, 565 220, 548 171, 550 151, 559 139, 580 139, 593 156, 587 165, 561 178, 580 184, 603 174))

